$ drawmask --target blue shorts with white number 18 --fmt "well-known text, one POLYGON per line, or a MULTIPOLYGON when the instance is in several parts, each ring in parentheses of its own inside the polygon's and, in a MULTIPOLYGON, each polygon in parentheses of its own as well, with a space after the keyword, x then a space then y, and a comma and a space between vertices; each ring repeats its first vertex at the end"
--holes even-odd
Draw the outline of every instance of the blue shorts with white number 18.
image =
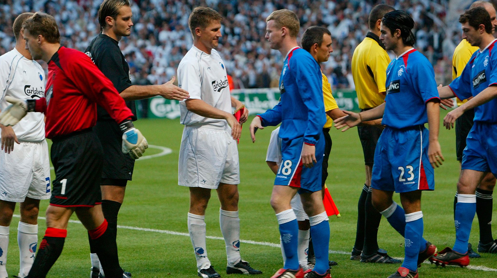
POLYGON ((321 190, 322 165, 325 153, 323 132, 321 132, 320 139, 316 143, 316 160, 318 162, 311 168, 302 165, 303 147, 303 137, 291 141, 281 141, 281 165, 274 179, 274 185, 298 187, 300 188, 299 193, 321 190))

